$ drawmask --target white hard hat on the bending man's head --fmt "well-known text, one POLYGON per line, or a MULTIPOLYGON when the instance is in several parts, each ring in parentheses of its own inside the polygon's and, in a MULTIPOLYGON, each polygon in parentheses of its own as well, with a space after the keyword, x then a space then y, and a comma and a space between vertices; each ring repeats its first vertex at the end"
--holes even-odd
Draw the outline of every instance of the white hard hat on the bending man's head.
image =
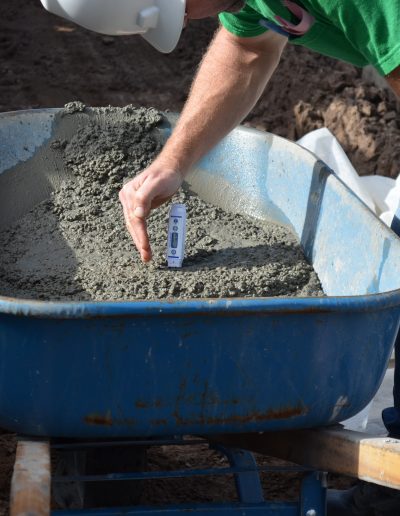
POLYGON ((171 52, 182 32, 186 0, 41 0, 53 14, 108 34, 140 34, 160 52, 171 52))

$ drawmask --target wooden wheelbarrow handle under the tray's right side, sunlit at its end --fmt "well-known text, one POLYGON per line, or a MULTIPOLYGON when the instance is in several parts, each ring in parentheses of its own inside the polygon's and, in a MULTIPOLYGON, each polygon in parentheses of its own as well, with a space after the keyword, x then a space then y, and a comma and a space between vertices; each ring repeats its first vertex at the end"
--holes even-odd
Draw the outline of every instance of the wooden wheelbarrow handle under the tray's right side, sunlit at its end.
POLYGON ((213 442, 400 489, 400 440, 342 427, 224 434, 213 442))

